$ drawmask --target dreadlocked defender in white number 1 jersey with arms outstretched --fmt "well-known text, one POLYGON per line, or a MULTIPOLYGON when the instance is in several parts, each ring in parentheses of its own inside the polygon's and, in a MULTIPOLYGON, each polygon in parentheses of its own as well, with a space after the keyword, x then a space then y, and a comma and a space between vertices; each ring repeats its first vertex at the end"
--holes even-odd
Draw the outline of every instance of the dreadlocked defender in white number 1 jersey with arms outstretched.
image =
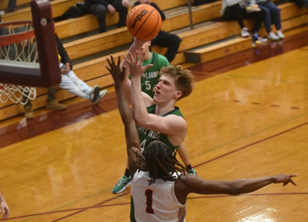
POLYGON ((141 153, 132 111, 123 90, 124 70, 120 70, 119 62, 116 66, 111 60, 108 70, 115 83, 117 104, 125 129, 129 171, 133 178, 131 194, 135 206, 131 205, 131 222, 185 221, 187 196, 190 193, 239 195, 272 183, 283 183, 283 186, 292 183, 297 186, 292 178, 297 174, 233 181, 210 181, 191 176, 185 174, 187 169, 161 141, 151 142, 147 153, 141 153))

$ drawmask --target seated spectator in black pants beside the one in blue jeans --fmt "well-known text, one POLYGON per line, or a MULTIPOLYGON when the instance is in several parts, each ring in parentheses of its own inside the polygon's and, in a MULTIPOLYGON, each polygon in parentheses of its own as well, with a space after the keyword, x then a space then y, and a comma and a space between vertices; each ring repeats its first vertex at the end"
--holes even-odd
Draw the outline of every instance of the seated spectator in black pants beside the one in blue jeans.
POLYGON ((255 19, 253 27, 253 41, 266 42, 267 39, 261 38, 258 35, 258 30, 264 20, 264 11, 262 11, 254 0, 222 0, 221 14, 224 20, 237 21, 241 27, 241 36, 250 36, 248 28, 244 26, 244 18, 255 19))

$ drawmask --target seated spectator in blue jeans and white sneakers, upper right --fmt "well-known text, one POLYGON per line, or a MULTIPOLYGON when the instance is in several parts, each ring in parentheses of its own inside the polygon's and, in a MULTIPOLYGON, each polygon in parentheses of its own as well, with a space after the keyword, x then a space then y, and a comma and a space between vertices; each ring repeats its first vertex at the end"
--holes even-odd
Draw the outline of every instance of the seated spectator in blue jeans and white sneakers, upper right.
POLYGON ((281 30, 280 9, 271 0, 256 0, 259 7, 264 11, 264 24, 267 31, 267 39, 277 41, 284 39, 285 35, 281 30), (272 32, 272 21, 276 27, 276 34, 272 32))

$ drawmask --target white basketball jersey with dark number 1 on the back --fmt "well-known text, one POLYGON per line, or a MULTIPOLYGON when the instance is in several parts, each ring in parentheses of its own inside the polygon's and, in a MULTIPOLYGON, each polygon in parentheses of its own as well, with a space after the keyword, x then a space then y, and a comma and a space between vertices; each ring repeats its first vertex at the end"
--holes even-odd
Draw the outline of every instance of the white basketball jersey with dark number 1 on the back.
POLYGON ((174 193, 175 182, 157 179, 149 186, 148 172, 136 172, 131 185, 137 222, 185 222, 186 204, 174 193))

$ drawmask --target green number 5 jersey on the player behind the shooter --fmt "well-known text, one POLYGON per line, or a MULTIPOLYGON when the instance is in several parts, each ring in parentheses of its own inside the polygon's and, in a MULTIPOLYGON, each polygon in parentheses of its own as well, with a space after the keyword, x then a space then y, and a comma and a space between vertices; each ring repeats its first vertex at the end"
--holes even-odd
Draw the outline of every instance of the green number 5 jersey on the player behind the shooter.
POLYGON ((148 94, 151 98, 154 97, 153 87, 158 83, 159 71, 163 66, 170 66, 168 59, 160 54, 152 53, 152 58, 144 60, 143 66, 153 64, 152 67, 147 69, 141 76, 141 90, 148 94))

